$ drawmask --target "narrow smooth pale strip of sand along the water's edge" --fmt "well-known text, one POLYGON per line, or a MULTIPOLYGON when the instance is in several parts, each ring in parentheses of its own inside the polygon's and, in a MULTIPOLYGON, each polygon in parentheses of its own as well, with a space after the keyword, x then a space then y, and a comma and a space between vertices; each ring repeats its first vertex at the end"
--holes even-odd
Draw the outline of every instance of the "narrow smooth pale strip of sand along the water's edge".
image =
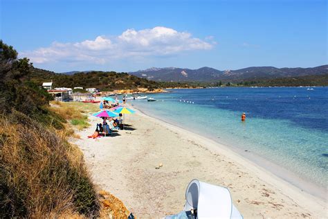
POLYGON ((283 166, 279 166, 278 164, 273 163, 273 161, 269 161, 264 157, 257 155, 257 153, 255 152, 250 152, 250 151, 245 152, 242 148, 233 146, 232 143, 228 143, 228 141, 224 141, 222 139, 215 139, 210 135, 206 135, 204 137, 201 133, 194 132, 193 130, 189 130, 188 128, 184 128, 179 124, 173 123, 171 121, 164 121, 163 118, 158 116, 149 115, 147 114, 147 112, 144 112, 142 109, 139 109, 135 105, 132 105, 131 107, 137 109, 139 112, 145 114, 146 116, 149 116, 150 118, 157 119, 163 123, 167 123, 169 125, 180 128, 181 130, 188 131, 192 134, 197 134, 199 137, 203 137, 205 139, 214 141, 214 143, 219 144, 219 146, 224 147, 226 150, 231 150, 232 152, 237 153, 239 157, 242 157, 243 159, 246 158, 246 161, 250 162, 252 165, 261 167, 268 173, 271 173, 275 177, 281 179, 283 182, 291 184, 291 186, 294 186, 295 189, 298 190, 299 192, 302 193, 305 192, 315 198, 322 200, 323 202, 327 202, 328 191, 327 189, 325 189, 324 186, 316 184, 315 182, 309 182, 307 181, 307 179, 304 179, 299 175, 293 173, 293 171, 288 170, 283 166))

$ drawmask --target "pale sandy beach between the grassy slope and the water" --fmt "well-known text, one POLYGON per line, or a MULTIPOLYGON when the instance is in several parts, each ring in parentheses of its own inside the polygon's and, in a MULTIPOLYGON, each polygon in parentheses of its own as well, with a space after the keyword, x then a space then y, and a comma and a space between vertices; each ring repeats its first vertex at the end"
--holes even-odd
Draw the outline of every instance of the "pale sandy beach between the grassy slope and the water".
POLYGON ((73 139, 93 181, 138 218, 162 218, 183 209, 192 179, 227 186, 244 218, 327 218, 321 200, 284 182, 215 141, 138 111, 113 137, 87 139, 100 119, 73 139), (156 169, 158 164, 163 167, 156 169))

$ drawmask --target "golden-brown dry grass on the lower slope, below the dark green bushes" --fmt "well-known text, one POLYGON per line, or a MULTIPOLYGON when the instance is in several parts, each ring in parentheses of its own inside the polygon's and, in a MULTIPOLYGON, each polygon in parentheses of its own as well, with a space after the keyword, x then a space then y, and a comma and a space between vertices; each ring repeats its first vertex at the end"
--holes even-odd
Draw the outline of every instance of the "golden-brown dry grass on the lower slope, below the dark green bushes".
POLYGON ((64 131, 46 130, 20 116, 0 119, 0 217, 44 218, 98 214, 82 152, 64 131))

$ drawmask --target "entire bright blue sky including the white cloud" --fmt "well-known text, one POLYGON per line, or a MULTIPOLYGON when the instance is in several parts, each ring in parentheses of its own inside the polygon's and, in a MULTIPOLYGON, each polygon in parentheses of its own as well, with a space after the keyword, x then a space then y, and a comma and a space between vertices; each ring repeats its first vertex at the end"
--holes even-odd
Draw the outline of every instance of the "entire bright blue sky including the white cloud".
POLYGON ((0 0, 0 37, 55 72, 327 64, 327 1, 0 0))

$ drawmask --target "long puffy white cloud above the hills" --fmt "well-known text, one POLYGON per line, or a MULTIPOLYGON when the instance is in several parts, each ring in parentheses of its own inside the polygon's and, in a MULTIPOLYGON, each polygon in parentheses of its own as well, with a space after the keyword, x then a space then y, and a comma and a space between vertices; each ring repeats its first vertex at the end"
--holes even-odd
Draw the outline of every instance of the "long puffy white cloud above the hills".
MULTIPOLYGON (((212 39, 211 39, 212 40, 212 39)), ((20 56, 35 63, 90 62, 105 64, 124 58, 145 58, 149 55, 174 55, 183 51, 212 49, 214 42, 205 42, 190 33, 157 26, 152 29, 127 29, 116 37, 98 36, 83 42, 53 42, 50 46, 25 51, 20 56)))

